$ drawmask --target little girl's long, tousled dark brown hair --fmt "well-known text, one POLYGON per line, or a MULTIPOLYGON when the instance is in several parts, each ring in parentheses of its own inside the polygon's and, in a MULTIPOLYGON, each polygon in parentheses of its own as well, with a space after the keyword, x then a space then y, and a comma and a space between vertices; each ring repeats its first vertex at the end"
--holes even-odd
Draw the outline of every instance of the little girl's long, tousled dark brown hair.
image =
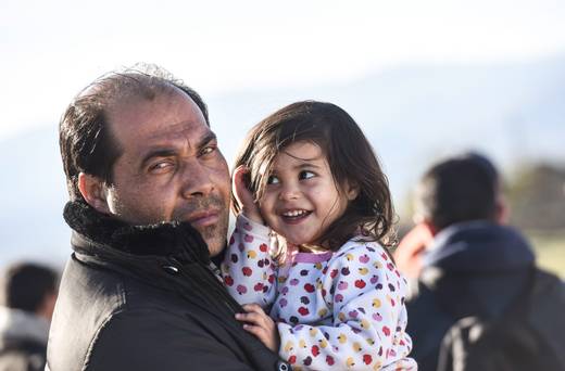
MULTIPOLYGON (((300 141, 321 148, 338 192, 342 192, 346 182, 359 187, 357 197, 326 229, 321 241, 337 250, 361 228, 367 241, 391 245, 393 208, 387 177, 359 125, 331 103, 292 103, 251 129, 234 168, 244 165, 250 170, 249 187, 255 201, 259 202, 265 192, 277 154, 300 141)), ((235 197, 233 202, 239 212, 240 205, 235 197)))

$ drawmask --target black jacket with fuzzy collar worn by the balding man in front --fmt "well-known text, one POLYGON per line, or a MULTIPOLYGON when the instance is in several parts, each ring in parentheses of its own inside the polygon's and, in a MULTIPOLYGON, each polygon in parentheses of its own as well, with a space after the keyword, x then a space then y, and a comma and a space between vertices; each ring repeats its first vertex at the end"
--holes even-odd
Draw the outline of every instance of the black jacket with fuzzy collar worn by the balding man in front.
POLYGON ((75 253, 62 277, 48 369, 285 370, 247 333, 188 223, 131 227, 70 203, 75 253))

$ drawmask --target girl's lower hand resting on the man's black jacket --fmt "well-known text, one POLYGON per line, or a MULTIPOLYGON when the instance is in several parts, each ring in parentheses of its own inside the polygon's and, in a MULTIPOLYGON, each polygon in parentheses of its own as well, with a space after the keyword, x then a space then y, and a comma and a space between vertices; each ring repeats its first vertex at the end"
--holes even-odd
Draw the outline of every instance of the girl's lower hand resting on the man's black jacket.
POLYGON ((255 335, 267 348, 278 354, 279 338, 275 321, 258 304, 246 304, 246 314, 237 314, 238 321, 247 322, 243 329, 255 335))

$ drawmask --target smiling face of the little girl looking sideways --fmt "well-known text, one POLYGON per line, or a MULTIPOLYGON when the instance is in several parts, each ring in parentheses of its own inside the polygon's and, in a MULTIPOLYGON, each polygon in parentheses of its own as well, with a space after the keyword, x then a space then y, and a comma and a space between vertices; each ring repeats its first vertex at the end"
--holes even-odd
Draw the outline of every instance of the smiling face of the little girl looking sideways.
POLYGON ((318 239, 354 200, 357 191, 344 184, 338 191, 322 149, 294 142, 277 154, 261 214, 271 228, 289 242, 318 244, 318 239))

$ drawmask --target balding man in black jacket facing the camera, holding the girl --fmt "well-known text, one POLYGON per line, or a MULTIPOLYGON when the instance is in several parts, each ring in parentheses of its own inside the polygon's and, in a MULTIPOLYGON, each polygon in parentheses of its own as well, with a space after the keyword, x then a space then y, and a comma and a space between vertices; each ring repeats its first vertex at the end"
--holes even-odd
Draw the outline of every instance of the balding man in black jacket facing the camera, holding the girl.
POLYGON ((236 321, 211 268, 226 243, 229 174, 206 106, 152 69, 98 79, 62 117, 74 254, 48 368, 284 370, 236 321))

